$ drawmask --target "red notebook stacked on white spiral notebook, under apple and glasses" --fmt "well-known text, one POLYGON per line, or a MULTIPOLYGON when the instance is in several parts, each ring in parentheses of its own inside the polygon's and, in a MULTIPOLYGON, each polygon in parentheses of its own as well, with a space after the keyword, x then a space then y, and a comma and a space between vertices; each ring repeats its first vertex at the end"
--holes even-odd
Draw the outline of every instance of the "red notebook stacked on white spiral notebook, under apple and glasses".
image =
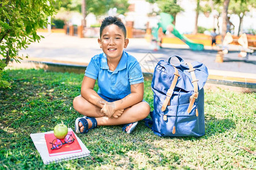
MULTIPOLYGON (((38 150, 44 164, 52 162, 61 162, 63 160, 77 159, 90 155, 90 151, 84 143, 77 137, 71 128, 68 128, 68 134, 71 134, 75 141, 71 144, 65 144, 59 149, 51 150, 50 142, 56 139, 53 131, 45 133, 30 134, 36 149, 38 150)), ((64 143, 63 139, 61 141, 64 143)))

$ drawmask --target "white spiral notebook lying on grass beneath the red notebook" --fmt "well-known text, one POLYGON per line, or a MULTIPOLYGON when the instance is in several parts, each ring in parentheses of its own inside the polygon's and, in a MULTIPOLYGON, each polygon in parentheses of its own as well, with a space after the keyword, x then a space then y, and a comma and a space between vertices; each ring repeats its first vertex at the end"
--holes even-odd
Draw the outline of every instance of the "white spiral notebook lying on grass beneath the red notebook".
MULTIPOLYGON (((73 131, 71 128, 68 128, 68 131, 73 131)), ((30 137, 32 139, 32 141, 34 142, 34 145, 36 147, 36 149, 38 150, 44 164, 49 164, 52 162, 61 162, 63 160, 69 160, 69 159, 77 159, 77 158, 82 158, 84 156, 88 156, 90 155, 90 151, 88 150, 88 148, 86 148, 86 146, 84 145, 84 143, 82 143, 81 139, 79 139, 79 137, 77 137, 77 141, 79 141, 79 144, 82 148, 81 152, 76 152, 76 153, 72 153, 72 154, 65 154, 65 155, 56 155, 56 156, 49 156, 49 152, 46 146, 46 139, 44 138, 44 134, 47 133, 53 133, 53 131, 47 131, 45 133, 34 133, 34 134, 30 134, 30 137)))

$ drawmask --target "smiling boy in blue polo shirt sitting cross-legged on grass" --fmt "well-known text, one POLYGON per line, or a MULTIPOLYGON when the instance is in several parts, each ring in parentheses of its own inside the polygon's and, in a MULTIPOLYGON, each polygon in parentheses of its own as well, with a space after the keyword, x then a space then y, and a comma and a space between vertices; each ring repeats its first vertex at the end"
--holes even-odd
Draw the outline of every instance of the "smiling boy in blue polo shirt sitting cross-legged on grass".
POLYGON ((139 120, 150 113, 143 100, 144 81, 137 59, 123 51, 129 44, 121 19, 108 16, 100 28, 98 39, 103 53, 94 56, 82 80, 81 95, 73 107, 84 115, 75 122, 76 133, 105 125, 123 125, 131 133, 139 120), (98 92, 93 90, 98 79, 98 92))

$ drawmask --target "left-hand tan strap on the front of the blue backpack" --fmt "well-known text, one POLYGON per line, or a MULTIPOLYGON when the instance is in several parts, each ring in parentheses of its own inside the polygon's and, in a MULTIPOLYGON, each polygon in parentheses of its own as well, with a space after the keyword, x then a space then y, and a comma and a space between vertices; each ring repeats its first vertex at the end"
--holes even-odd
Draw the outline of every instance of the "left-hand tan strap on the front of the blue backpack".
POLYGON ((161 108, 162 112, 166 110, 167 105, 170 105, 171 96, 174 93, 174 88, 176 86, 177 79, 180 76, 177 68, 174 65, 172 65, 172 66, 174 67, 174 70, 175 70, 175 72, 174 72, 174 80, 172 80, 172 84, 171 84, 170 88, 167 91, 166 99, 164 99, 164 102, 163 102, 163 105, 162 105, 162 108, 161 108))

